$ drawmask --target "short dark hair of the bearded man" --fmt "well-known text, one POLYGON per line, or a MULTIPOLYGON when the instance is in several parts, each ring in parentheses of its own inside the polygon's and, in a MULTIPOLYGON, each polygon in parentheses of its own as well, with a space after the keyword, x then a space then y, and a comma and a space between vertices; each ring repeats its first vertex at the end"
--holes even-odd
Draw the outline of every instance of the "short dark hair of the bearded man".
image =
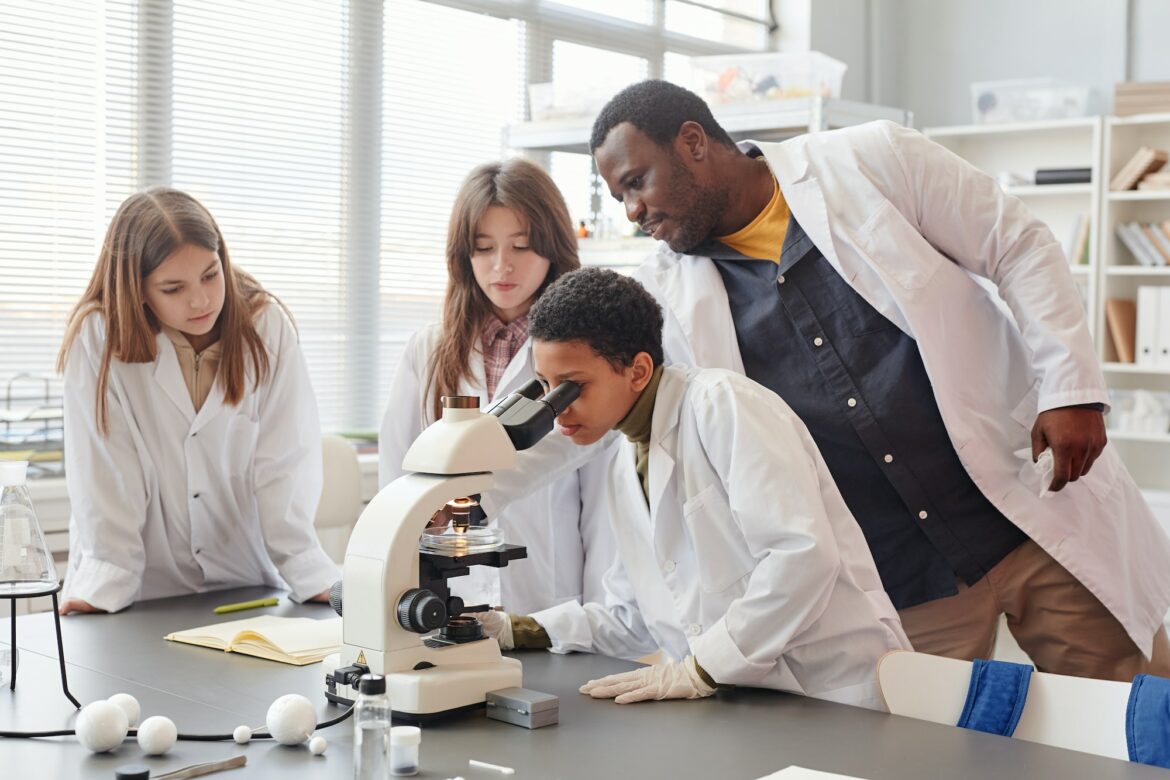
POLYGON ((711 140, 735 146, 731 136, 711 116, 711 110, 690 90, 668 81, 649 78, 631 84, 605 104, 593 120, 589 139, 592 154, 605 143, 610 131, 628 122, 659 146, 668 146, 684 122, 697 122, 711 140))

